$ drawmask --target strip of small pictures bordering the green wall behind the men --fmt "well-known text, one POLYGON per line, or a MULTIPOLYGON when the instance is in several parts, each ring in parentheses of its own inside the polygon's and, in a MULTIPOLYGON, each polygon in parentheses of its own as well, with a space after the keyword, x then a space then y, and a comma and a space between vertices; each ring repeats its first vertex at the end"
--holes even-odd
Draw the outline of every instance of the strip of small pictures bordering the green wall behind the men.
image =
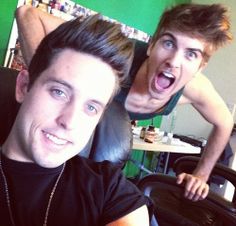
MULTIPOLYGON (((60 17, 64 19, 65 21, 74 19, 75 17, 87 17, 93 14, 96 14, 97 12, 83 7, 71 0, 26 0, 26 5, 31 5, 35 8, 38 8, 46 13, 52 14, 56 17, 60 17)), ((133 27, 130 27, 126 24, 120 23, 119 21, 116 21, 112 18, 109 18, 107 16, 103 16, 102 18, 104 20, 108 20, 112 23, 119 23, 121 24, 122 32, 131 39, 137 39, 144 42, 148 42, 150 39, 150 36, 140 30, 137 30, 133 27)), ((26 64, 22 57, 22 52, 20 49, 20 43, 18 39, 16 40, 15 48, 10 49, 10 55, 7 59, 7 66, 14 68, 16 70, 22 70, 27 68, 26 64)))

